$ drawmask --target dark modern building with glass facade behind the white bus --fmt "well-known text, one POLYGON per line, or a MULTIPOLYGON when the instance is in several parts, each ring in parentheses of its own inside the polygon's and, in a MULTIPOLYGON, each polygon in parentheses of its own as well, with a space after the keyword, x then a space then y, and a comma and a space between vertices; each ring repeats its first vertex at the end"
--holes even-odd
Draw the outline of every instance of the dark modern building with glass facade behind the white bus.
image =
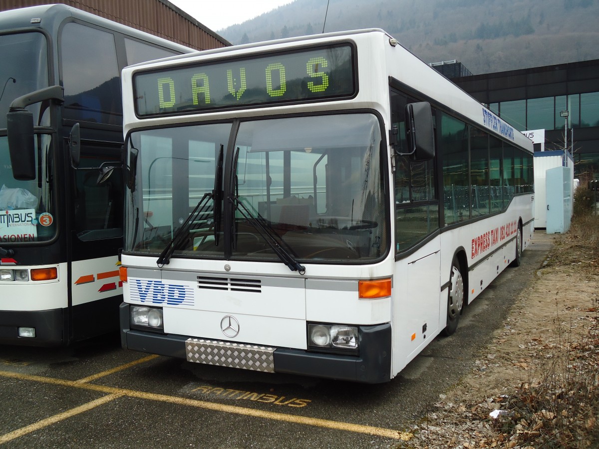
POLYGON ((452 81, 518 131, 545 129, 545 150, 564 149, 567 126, 575 175, 599 177, 599 59, 452 81))

